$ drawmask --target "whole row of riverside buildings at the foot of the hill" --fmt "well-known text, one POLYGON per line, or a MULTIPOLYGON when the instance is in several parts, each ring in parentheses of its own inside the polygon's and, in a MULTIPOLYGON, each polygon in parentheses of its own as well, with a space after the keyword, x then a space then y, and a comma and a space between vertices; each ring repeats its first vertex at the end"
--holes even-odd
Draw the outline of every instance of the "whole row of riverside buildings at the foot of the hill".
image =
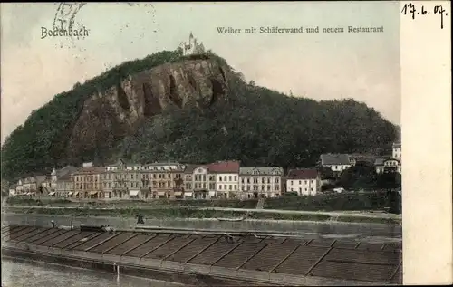
MULTIPOLYGON (((360 161, 372 163, 377 173, 400 172, 400 145, 394 145, 393 157, 323 154, 320 165, 333 175, 360 161)), ((323 185, 318 168, 241 167, 239 161, 218 161, 194 165, 181 163, 127 163, 120 159, 107 167, 67 166, 50 176, 20 179, 10 189, 11 196, 56 196, 97 199, 154 198, 257 198, 295 192, 316 195, 323 185)))

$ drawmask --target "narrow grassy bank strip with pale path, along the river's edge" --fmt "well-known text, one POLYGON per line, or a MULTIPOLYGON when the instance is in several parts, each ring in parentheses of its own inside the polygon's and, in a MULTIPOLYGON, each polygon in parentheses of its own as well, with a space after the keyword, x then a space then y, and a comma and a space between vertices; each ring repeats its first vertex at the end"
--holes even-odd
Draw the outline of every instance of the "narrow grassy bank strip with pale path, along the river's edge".
POLYGON ((173 218, 213 218, 224 220, 256 219, 315 222, 369 223, 384 225, 401 225, 400 215, 388 214, 352 214, 305 212, 289 210, 259 210, 239 208, 194 208, 194 207, 61 207, 61 206, 4 206, 4 212, 32 215, 68 215, 68 216, 109 216, 134 218, 141 215, 149 219, 173 218))

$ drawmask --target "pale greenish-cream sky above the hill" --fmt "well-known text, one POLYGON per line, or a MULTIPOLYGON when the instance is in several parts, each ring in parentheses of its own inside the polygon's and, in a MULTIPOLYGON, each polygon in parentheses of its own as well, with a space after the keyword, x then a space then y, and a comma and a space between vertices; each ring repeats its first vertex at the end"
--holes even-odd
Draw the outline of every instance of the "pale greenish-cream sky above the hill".
MULTIPOLYGON (((1 140, 33 110, 121 62, 174 50, 192 32, 246 81, 313 100, 353 98, 400 124, 398 2, 89 3, 81 39, 46 37, 59 4, 1 4, 1 140), (217 27, 343 27, 346 33, 235 33, 217 27), (347 27, 383 26, 383 33, 347 27)), ((67 10, 66 10, 67 11, 67 10)))

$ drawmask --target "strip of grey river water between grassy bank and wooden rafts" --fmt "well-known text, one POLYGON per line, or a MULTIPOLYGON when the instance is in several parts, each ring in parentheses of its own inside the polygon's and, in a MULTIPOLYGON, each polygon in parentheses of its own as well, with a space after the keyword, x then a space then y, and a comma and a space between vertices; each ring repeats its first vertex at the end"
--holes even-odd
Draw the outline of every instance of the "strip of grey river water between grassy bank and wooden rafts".
POLYGON ((348 238, 390 238, 401 240, 401 225, 382 225, 370 223, 350 222, 316 222, 292 220, 260 220, 245 219, 243 221, 219 221, 215 218, 144 218, 144 223, 137 224, 137 218, 119 216, 72 216, 72 215, 38 215, 4 213, 2 225, 111 225, 116 229, 131 229, 140 226, 154 226, 159 228, 210 230, 217 232, 246 232, 246 233, 298 233, 305 236, 319 236, 320 234, 348 237, 348 238))

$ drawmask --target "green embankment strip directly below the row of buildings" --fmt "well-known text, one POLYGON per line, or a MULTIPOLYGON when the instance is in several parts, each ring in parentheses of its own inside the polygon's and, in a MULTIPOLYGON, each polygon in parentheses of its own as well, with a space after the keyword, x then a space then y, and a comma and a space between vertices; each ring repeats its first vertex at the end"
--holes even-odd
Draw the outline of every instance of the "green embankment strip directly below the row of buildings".
MULTIPOLYGON (((363 211, 376 212, 384 211, 390 207, 387 192, 370 191, 354 192, 342 194, 321 194, 316 196, 290 196, 285 195, 275 198, 265 198, 263 209, 292 210, 306 212, 347 212, 363 211)), ((196 200, 196 199, 82 199, 82 198, 21 198, 10 197, 6 200, 9 206, 64 206, 64 207, 197 207, 197 208, 240 208, 255 209, 258 199, 216 199, 216 200, 196 200)), ((396 203, 392 203, 396 204, 396 203)), ((393 206, 395 207, 395 206, 393 206)), ((399 208, 397 208, 399 209, 399 208)))

